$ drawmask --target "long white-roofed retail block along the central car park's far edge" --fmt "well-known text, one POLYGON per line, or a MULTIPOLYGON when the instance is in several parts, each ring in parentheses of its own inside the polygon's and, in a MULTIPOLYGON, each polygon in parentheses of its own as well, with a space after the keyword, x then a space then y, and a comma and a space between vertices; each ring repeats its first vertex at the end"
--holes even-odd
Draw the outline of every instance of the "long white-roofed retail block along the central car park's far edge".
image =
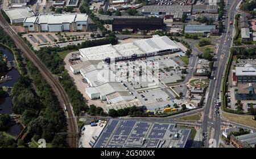
POLYGON ((152 38, 135 40, 126 44, 101 45, 79 49, 82 57, 88 60, 115 61, 141 58, 153 55, 172 54, 180 51, 179 46, 167 36, 155 35, 152 38))

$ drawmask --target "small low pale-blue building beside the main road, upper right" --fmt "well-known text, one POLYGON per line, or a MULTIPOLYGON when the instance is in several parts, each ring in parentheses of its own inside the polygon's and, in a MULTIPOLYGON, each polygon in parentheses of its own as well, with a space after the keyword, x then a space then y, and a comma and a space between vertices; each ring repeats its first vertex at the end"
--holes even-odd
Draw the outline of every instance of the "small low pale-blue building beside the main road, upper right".
POLYGON ((216 25, 185 25, 185 33, 210 33, 216 25))

